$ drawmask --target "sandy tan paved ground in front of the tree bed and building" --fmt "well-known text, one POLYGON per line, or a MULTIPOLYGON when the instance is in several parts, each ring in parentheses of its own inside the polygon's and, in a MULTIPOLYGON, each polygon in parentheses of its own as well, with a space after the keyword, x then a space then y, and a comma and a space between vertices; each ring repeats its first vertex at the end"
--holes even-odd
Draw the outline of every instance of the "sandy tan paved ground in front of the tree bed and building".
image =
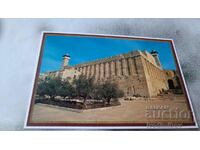
POLYGON ((44 104, 35 104, 31 122, 66 123, 191 123, 191 114, 183 96, 157 97, 125 101, 120 106, 74 112, 44 104))

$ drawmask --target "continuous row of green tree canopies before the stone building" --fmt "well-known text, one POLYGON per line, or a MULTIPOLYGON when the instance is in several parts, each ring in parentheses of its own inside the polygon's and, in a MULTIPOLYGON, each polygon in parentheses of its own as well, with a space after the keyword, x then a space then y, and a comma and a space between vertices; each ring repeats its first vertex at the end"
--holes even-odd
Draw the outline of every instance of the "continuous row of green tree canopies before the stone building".
POLYGON ((47 78, 40 80, 38 83, 37 94, 41 97, 45 95, 51 99, 56 96, 61 96, 64 99, 78 97, 83 99, 85 105, 87 99, 103 100, 110 104, 111 99, 123 97, 124 93, 117 84, 109 81, 101 84, 94 83, 94 78, 86 78, 80 75, 79 78, 74 79, 73 82, 62 80, 59 77, 47 78))

